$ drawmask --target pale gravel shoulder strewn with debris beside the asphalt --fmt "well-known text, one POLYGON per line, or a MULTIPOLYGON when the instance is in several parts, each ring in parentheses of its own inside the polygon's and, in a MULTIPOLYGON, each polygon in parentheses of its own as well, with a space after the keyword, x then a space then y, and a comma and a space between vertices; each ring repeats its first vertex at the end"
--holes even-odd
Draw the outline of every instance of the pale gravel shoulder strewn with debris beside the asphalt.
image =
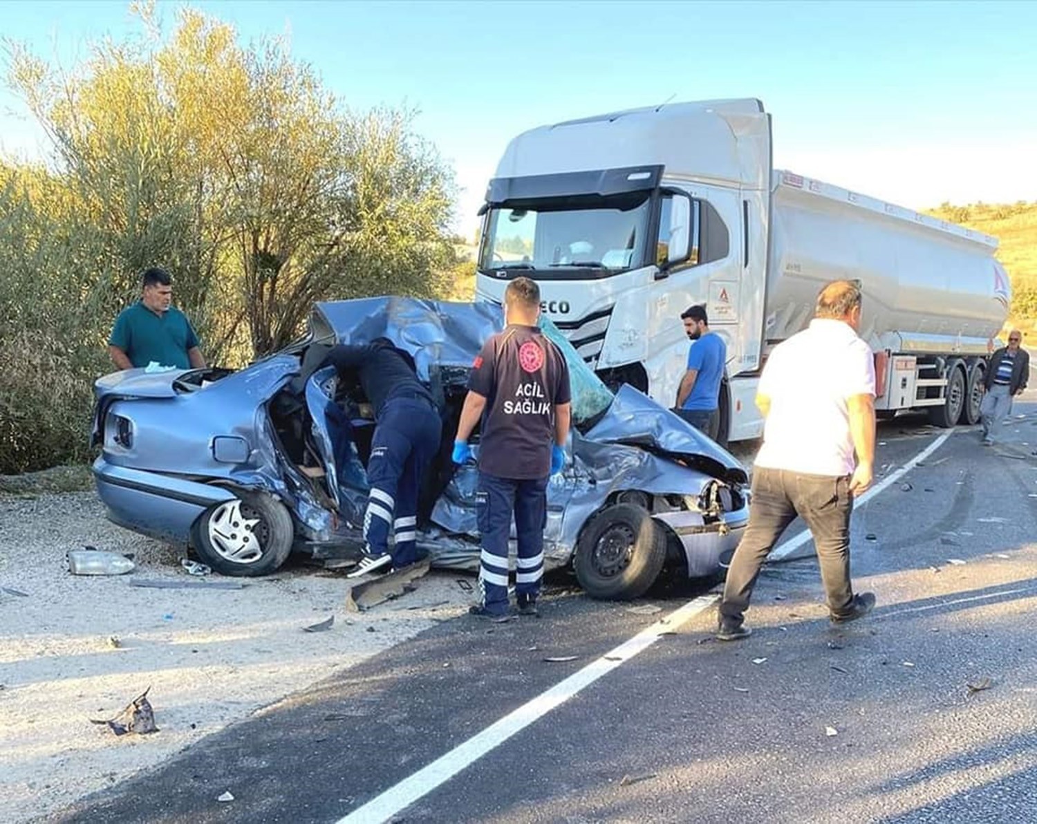
MULTIPOLYGON (((304 566, 241 590, 133 587, 197 579, 175 548, 109 523, 92 492, 36 494, 39 475, 20 489, 5 479, 0 493, 0 821, 47 815, 152 767, 471 602, 460 576, 432 573, 358 615, 341 575, 304 566), (72 575, 65 552, 84 544, 132 552, 137 569, 72 575), (303 630, 331 616, 331 630, 303 630), (148 687, 158 734, 116 737, 90 722, 148 687)), ((49 471, 47 482, 82 488, 82 478, 49 471)))

